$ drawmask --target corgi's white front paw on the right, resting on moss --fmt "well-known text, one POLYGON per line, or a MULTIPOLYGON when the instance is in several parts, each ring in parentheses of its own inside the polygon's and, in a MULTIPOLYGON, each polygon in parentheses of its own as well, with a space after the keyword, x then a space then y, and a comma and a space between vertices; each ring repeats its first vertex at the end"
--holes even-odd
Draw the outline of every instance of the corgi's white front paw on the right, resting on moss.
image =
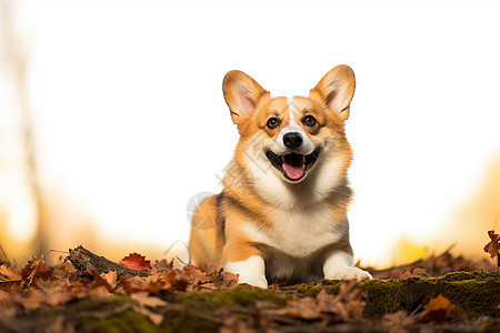
POLYGON ((370 273, 353 268, 352 254, 341 250, 332 251, 327 255, 323 264, 324 279, 329 280, 371 280, 370 273))

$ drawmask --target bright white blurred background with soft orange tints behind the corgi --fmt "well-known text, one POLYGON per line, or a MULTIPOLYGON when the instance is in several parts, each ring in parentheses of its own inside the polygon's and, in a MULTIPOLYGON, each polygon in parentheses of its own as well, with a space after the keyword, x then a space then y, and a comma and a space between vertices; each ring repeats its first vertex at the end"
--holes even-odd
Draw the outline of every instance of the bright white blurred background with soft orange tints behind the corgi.
MULTIPOLYGON (((0 0, 0 256, 187 242, 238 140, 223 75, 357 75, 351 242, 378 268, 486 258, 500 229, 498 1, 0 0)), ((59 254, 53 255, 56 259, 59 254)))

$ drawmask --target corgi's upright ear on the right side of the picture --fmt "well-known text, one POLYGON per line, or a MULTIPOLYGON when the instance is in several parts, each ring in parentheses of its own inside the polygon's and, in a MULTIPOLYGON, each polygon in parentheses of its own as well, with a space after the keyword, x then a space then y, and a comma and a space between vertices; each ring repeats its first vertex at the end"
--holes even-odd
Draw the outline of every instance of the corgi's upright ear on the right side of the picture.
POLYGON ((319 93, 328 108, 346 120, 349 118, 349 104, 354 94, 354 72, 349 65, 340 64, 329 71, 311 90, 311 93, 319 93))

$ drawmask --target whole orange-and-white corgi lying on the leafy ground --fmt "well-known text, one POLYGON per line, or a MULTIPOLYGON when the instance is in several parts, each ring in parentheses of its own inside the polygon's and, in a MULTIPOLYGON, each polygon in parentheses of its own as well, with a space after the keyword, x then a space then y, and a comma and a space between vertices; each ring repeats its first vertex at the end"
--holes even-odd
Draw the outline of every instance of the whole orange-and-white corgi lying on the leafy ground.
POLYGON ((239 283, 357 281, 347 209, 352 151, 344 121, 354 93, 348 65, 329 71, 309 97, 271 98, 230 71, 222 90, 240 140, 220 194, 193 212, 192 264, 223 268, 239 283))

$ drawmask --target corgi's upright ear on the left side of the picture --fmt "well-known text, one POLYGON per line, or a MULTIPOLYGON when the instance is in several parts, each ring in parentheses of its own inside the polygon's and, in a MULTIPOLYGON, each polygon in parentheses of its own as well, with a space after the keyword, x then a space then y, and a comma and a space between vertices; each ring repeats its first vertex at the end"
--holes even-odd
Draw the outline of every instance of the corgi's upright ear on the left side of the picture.
POLYGON ((222 82, 226 103, 232 122, 240 124, 256 109, 260 98, 269 94, 259 83, 241 71, 230 71, 222 82))

